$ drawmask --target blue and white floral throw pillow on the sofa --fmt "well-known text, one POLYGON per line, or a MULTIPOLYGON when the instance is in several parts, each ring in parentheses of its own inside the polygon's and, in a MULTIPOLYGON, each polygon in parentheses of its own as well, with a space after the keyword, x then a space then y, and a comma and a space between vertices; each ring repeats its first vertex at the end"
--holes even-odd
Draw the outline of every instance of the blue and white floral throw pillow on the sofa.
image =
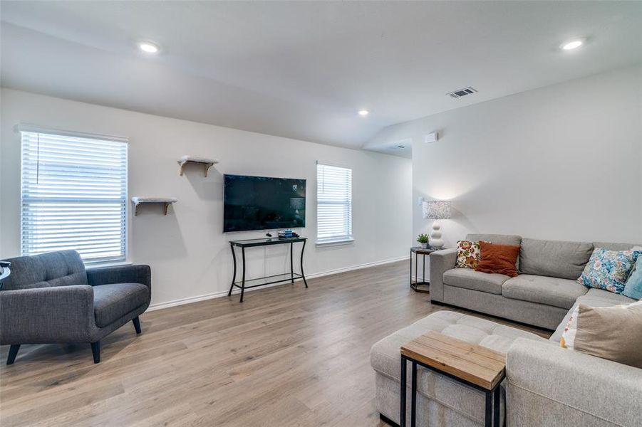
POLYGON ((599 288, 609 292, 622 293, 626 279, 636 264, 642 251, 607 251, 595 248, 577 281, 589 288, 599 288))

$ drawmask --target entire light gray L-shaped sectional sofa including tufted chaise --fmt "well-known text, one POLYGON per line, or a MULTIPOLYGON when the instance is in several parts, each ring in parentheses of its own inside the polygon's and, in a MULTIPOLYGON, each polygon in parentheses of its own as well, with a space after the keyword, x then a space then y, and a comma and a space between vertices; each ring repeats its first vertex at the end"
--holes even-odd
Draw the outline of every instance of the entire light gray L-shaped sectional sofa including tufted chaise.
MULTIPOLYGON (((624 250, 633 244, 481 234, 469 235, 467 240, 521 244, 520 274, 509 278, 455 269, 455 251, 438 251, 430 255, 431 298, 555 332, 544 339, 460 312, 435 312, 373 345, 371 364, 380 415, 398 423, 400 347, 432 330, 507 354, 501 417, 508 426, 642 426, 642 369, 559 347, 576 304, 633 302, 574 281, 594 246, 624 250)), ((420 368, 417 416, 418 426, 483 426, 484 395, 420 368)))

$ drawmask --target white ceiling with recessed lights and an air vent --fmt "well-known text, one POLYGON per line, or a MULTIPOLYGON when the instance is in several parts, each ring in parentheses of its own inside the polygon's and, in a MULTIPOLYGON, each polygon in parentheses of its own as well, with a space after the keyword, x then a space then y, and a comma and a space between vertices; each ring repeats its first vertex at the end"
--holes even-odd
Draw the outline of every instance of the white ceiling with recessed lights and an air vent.
POLYGON ((398 122, 642 62, 640 1, 0 8, 5 87, 352 148, 398 122), (561 52, 575 36, 586 46, 561 52), (142 39, 161 53, 140 53, 142 39), (468 85, 479 93, 445 95, 468 85))

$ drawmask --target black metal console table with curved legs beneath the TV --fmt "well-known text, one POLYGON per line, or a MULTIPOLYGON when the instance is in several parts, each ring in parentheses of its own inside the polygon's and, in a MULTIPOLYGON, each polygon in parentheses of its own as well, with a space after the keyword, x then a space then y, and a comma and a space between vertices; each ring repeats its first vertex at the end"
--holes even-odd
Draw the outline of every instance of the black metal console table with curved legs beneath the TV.
POLYGON ((293 237, 293 238, 278 238, 278 237, 269 237, 269 238, 251 238, 248 240, 240 240, 240 241, 230 241, 229 242, 229 248, 232 249, 232 259, 234 260, 234 274, 232 275, 232 285, 229 287, 229 292, 227 292, 227 296, 229 297, 232 295, 232 290, 234 289, 234 286, 237 288, 240 288, 241 290, 241 300, 239 302, 243 302, 243 295, 245 293, 246 289, 249 288, 258 288, 259 286, 265 286, 265 285, 272 285, 274 283, 285 283, 285 282, 291 282, 294 283, 295 278, 301 278, 303 279, 303 282, 306 285, 306 288, 308 287, 308 282, 306 281, 306 276, 304 275, 303 272, 303 253, 306 249, 306 241, 308 238, 306 237, 293 237), (303 247, 301 248, 301 273, 294 273, 294 243, 303 243, 303 247), (264 276, 262 278, 255 278, 255 279, 247 279, 245 278, 245 248, 254 248, 255 246, 271 246, 271 245, 285 245, 289 244, 290 245, 290 273, 283 273, 283 274, 275 274, 275 275, 269 275, 269 276, 264 276), (241 281, 237 282, 237 254, 236 251, 234 251, 234 246, 237 246, 241 248, 241 259, 242 259, 242 264, 243 264, 243 273, 241 275, 241 281), (266 283, 259 283, 258 285, 249 285, 246 286, 245 283, 247 282, 252 282, 255 280, 266 280, 266 279, 271 279, 271 278, 278 278, 281 277, 279 280, 271 280, 266 283), (284 277, 285 276, 285 277, 284 277))

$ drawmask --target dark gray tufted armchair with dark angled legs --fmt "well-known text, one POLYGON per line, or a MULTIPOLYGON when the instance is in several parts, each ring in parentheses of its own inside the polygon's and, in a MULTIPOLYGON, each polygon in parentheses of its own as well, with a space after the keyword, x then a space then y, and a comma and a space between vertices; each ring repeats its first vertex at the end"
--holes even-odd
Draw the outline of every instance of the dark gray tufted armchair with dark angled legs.
POLYGON ((21 344, 88 342, 100 362, 100 339, 133 322, 151 300, 148 265, 85 270, 76 251, 12 258, 0 290, 0 344, 10 344, 6 364, 21 344))

